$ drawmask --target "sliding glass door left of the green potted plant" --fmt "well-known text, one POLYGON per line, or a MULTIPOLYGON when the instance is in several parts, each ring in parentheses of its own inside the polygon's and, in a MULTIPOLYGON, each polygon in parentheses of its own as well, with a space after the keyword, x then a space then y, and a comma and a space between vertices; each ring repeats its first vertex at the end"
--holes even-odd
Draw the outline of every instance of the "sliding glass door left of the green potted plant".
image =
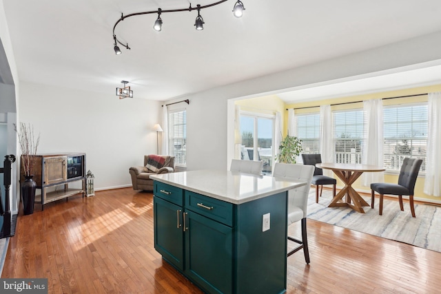
POLYGON ((274 115, 240 114, 240 159, 262 160, 263 174, 271 174, 274 162, 274 121, 274 115))

